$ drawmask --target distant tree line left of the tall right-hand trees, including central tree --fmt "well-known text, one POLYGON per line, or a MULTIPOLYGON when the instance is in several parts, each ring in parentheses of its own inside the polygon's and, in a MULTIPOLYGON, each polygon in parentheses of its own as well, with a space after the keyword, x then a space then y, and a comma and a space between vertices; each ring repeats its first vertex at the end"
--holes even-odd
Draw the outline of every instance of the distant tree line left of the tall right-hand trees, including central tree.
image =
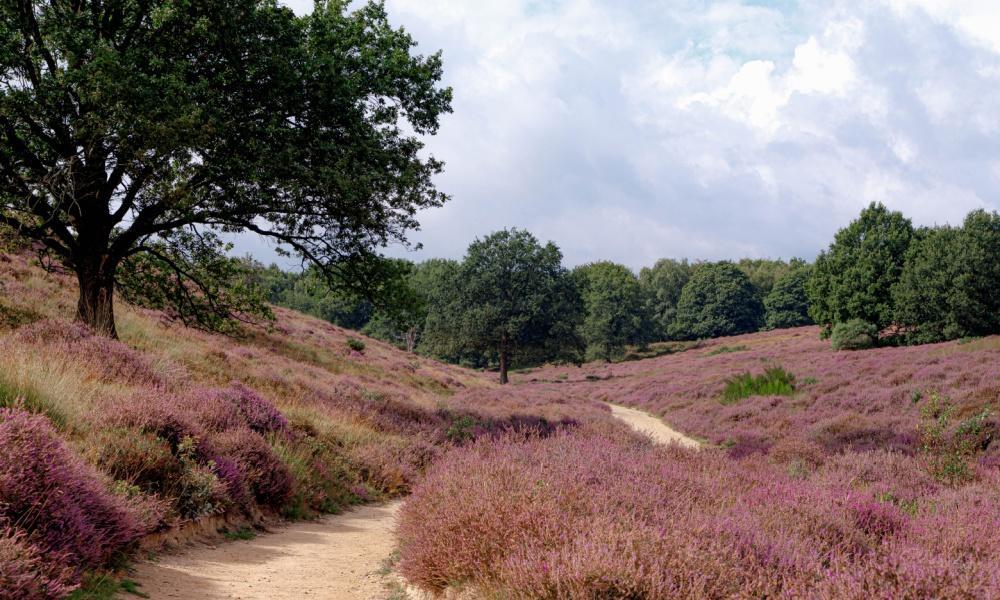
POLYGON ((810 323, 808 265, 664 259, 636 275, 609 261, 572 270, 555 244, 510 229, 461 261, 388 261, 399 285, 378 297, 331 288, 322 273, 256 266, 274 304, 472 367, 616 360, 627 347, 810 323))

